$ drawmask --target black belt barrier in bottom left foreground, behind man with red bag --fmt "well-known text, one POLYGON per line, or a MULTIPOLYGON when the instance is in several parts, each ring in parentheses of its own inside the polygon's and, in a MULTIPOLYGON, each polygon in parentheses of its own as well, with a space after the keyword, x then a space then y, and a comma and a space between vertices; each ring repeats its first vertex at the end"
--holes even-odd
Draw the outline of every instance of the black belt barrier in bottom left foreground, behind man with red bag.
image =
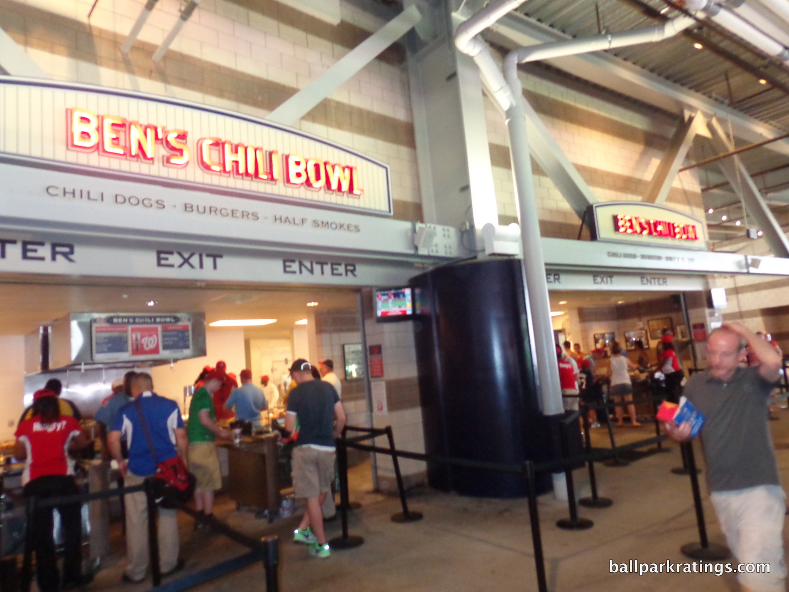
POLYGON ((108 489, 95 493, 77 493, 69 496, 38 498, 36 496, 28 498, 27 505, 27 532, 24 541, 24 560, 22 562, 21 590, 29 592, 32 582, 32 533, 36 526, 36 510, 39 508, 54 508, 69 504, 84 504, 87 501, 104 500, 114 496, 124 496, 127 493, 144 492, 148 505, 148 551, 151 556, 151 579, 153 586, 150 592, 181 592, 189 590, 195 586, 200 586, 213 579, 227 575, 232 571, 245 568, 248 565, 263 562, 266 573, 266 591, 279 592, 279 539, 277 537, 264 537, 256 539, 246 534, 230 528, 213 517, 208 517, 189 508, 185 504, 168 502, 186 514, 189 514, 196 522, 210 526, 219 534, 223 534, 231 541, 249 548, 249 553, 234 557, 233 559, 222 561, 196 573, 185 575, 166 584, 162 584, 161 567, 159 565, 159 533, 156 528, 156 496, 151 487, 150 480, 144 481, 142 485, 133 487, 123 487, 119 489, 108 489))

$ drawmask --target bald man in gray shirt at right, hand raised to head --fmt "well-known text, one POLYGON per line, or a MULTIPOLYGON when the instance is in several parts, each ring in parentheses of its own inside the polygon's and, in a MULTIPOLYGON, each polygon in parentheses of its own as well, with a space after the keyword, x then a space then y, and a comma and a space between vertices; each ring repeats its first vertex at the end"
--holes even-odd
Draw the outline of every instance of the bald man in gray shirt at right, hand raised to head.
MULTIPOLYGON (((744 592, 784 592, 783 515, 776 452, 768 427, 768 402, 780 376, 781 357, 741 323, 725 323, 707 339, 707 369, 695 373, 685 395, 702 414, 701 444, 710 499, 720 529, 744 564, 769 564, 768 573, 739 573, 744 592), (743 367, 746 347, 759 361, 743 367)), ((690 440, 690 424, 666 425, 677 441, 690 440)))

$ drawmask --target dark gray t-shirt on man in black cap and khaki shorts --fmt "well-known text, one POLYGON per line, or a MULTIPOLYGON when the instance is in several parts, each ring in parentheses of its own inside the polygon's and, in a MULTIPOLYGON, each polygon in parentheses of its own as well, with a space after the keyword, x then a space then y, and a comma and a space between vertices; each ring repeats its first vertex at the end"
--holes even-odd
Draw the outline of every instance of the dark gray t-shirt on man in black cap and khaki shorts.
POLYGON ((288 395, 288 413, 296 414, 295 446, 335 446, 335 403, 340 398, 324 380, 302 382, 288 395))

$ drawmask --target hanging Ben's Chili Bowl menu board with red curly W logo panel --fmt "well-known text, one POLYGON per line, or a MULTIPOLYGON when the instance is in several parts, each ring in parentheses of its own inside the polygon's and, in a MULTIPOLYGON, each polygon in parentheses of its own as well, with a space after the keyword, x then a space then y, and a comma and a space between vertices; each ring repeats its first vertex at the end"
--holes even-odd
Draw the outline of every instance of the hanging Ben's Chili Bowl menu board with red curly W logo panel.
POLYGON ((91 321, 93 362, 162 360, 192 355, 188 314, 114 314, 91 321))

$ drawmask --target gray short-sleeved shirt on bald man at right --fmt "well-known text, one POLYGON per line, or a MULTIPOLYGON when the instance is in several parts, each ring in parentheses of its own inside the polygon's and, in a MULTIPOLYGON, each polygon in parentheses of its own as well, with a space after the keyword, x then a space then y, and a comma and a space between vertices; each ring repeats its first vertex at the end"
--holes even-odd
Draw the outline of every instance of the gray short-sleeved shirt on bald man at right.
POLYGON ((758 366, 738 368, 727 383, 707 370, 688 380, 685 396, 705 415, 701 444, 710 491, 780 485, 768 426, 773 388, 758 366))

